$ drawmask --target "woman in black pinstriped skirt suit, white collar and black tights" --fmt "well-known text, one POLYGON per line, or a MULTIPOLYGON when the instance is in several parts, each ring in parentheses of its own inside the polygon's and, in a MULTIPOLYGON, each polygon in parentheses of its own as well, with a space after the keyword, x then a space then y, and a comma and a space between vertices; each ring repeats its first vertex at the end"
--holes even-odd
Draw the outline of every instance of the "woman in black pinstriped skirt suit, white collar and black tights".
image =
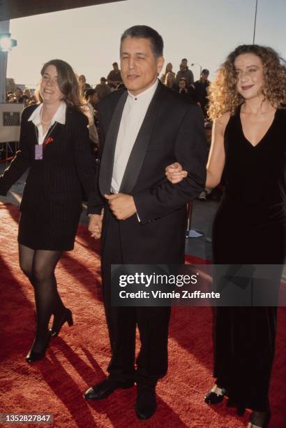
POLYGON ((24 109, 20 150, 0 177, 0 194, 6 195, 29 168, 18 234, 20 267, 33 285, 36 301, 36 334, 27 362, 43 358, 51 336, 57 336, 65 322, 73 324, 57 291, 54 270, 62 252, 73 250, 95 165, 73 69, 54 59, 43 66, 41 75, 40 104, 24 109))

